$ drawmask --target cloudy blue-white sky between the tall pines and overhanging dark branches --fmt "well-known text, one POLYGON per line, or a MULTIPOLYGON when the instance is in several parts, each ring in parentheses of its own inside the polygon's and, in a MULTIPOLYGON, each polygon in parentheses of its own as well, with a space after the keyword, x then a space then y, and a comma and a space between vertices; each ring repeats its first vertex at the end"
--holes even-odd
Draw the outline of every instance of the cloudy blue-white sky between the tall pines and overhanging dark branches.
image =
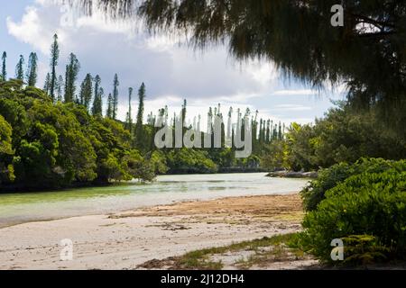
MULTIPOLYGON (((119 118, 124 120, 128 106, 128 88, 145 83, 145 113, 156 113, 165 105, 180 112, 183 99, 188 101, 189 118, 201 115, 209 106, 259 112, 259 116, 287 124, 309 123, 322 117, 332 100, 341 100, 341 89, 319 92, 295 79, 281 77, 272 63, 252 60, 238 62, 225 46, 204 51, 189 48, 179 39, 149 35, 137 23, 109 23, 101 15, 73 17, 66 7, 52 0, 0 0, 0 52, 7 52, 8 75, 22 54, 39 56, 39 83, 49 72, 52 35, 58 33, 60 61, 58 73, 70 52, 75 53, 81 69, 78 85, 87 73, 102 78, 106 94, 113 89, 115 73, 120 80, 119 118)), ((136 96, 133 111, 136 112, 136 96)), ((105 98, 106 102, 106 98, 105 98)), ((133 118, 135 115, 133 115, 133 118)))

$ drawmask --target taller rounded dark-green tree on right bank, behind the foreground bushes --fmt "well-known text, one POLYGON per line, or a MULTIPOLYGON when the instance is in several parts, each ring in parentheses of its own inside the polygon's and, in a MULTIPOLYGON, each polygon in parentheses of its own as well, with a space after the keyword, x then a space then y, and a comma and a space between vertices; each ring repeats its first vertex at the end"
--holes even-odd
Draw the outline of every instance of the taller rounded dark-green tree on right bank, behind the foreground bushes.
POLYGON ((362 157, 401 159, 406 157, 406 141, 383 125, 376 112, 355 113, 341 104, 317 121, 316 138, 310 139, 316 149, 318 166, 339 162, 354 163, 362 157))

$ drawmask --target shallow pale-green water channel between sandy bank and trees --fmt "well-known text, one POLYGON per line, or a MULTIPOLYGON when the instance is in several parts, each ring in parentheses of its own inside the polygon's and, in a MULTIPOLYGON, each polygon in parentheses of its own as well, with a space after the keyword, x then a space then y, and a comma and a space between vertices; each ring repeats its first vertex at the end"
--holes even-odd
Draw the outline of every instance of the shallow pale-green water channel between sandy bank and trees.
POLYGON ((295 193, 307 182, 303 179, 270 178, 264 173, 162 175, 152 184, 134 182, 59 192, 0 194, 0 227, 179 201, 295 193))

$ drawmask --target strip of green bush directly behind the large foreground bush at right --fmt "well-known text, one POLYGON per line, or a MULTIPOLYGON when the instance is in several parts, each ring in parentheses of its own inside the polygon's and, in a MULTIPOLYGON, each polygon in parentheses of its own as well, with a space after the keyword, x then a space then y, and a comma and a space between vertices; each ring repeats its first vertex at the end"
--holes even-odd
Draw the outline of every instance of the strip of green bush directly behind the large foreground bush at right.
POLYGON ((314 211, 318 207, 318 203, 326 198, 326 192, 342 183, 346 178, 352 175, 362 173, 380 173, 389 169, 396 171, 406 170, 406 161, 390 161, 381 158, 362 158, 354 165, 340 163, 331 166, 328 169, 322 169, 318 173, 318 179, 312 180, 310 184, 301 192, 303 205, 306 211, 314 211))

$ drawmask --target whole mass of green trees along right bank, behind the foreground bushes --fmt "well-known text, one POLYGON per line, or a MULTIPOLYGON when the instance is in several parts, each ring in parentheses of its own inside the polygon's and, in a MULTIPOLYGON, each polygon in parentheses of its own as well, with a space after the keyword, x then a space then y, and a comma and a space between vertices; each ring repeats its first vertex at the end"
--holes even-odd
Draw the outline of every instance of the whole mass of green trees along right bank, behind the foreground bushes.
POLYGON ((263 166, 294 171, 328 168, 337 163, 355 163, 360 157, 406 158, 406 139, 370 112, 355 112, 347 103, 337 103, 315 124, 291 124, 284 139, 274 141, 263 166))

